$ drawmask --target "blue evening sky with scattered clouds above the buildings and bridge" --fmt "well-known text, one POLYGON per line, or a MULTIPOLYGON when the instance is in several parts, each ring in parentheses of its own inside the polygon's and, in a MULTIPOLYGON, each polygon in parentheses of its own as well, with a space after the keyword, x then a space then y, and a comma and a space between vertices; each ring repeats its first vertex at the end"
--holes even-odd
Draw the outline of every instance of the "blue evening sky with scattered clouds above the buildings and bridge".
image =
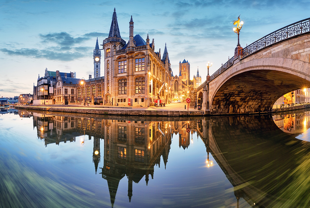
POLYGON ((93 77, 96 39, 102 44, 108 37, 114 7, 126 42, 132 15, 134 35, 145 40, 149 34, 155 51, 162 53, 167 44, 174 75, 185 59, 190 77, 199 67, 204 82, 208 61, 213 63, 211 75, 233 56, 237 34, 232 21, 239 15, 244 22, 240 44, 245 47, 309 18, 310 0, 0 0, 0 97, 32 94, 45 68, 93 77))

